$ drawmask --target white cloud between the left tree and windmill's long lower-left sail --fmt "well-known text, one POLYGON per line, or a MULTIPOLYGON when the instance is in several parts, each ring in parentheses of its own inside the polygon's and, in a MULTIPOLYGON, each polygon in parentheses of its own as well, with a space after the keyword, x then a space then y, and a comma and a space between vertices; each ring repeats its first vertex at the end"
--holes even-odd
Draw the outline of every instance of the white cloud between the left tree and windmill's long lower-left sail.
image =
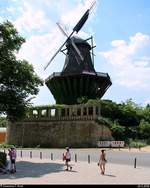
MULTIPOLYGON (((44 66, 61 45, 63 37, 62 35, 58 35, 58 33, 58 29, 55 28, 49 34, 31 36, 27 39, 26 43, 22 45, 17 56, 19 59, 26 59, 32 63, 36 73, 42 78, 48 76, 47 73, 44 72, 44 66)), ((57 66, 57 64, 55 66, 57 66)), ((56 68, 55 71, 58 71, 58 68, 56 68)))

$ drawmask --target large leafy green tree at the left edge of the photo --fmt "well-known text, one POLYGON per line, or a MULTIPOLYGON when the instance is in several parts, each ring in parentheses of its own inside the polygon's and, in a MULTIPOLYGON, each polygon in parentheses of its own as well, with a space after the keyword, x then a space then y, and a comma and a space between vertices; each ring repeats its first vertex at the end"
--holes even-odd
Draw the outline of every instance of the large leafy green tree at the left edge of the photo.
POLYGON ((43 84, 31 64, 16 58, 24 42, 11 22, 0 24, 0 114, 11 121, 24 117, 29 97, 43 84))

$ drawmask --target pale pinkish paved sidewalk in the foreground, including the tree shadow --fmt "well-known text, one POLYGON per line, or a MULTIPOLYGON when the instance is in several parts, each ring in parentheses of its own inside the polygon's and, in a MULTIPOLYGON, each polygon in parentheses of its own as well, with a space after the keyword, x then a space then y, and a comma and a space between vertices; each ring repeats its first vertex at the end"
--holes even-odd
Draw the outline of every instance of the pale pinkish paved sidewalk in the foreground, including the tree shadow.
POLYGON ((64 162, 36 158, 17 159, 16 174, 0 175, 1 184, 150 184, 150 168, 107 163, 101 175, 97 163, 71 163, 65 171, 64 162))

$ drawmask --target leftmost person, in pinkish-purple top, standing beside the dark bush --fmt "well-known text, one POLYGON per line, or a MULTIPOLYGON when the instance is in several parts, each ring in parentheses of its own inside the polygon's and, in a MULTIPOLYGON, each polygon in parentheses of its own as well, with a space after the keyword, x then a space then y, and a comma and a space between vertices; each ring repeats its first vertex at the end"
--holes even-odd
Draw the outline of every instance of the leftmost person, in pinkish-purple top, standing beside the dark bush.
POLYGON ((10 157, 10 172, 11 173, 15 173, 16 172, 16 149, 14 146, 12 146, 9 150, 8 150, 8 155, 10 157))

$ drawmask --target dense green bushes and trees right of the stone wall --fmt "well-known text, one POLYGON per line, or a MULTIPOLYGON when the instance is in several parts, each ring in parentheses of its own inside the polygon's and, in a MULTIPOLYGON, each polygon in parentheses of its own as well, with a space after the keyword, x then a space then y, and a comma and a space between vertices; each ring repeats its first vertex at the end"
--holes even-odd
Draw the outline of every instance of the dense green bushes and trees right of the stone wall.
POLYGON ((103 121, 100 123, 109 124, 115 139, 150 138, 150 105, 142 107, 132 99, 119 104, 111 100, 89 100, 87 103, 101 105, 103 121))

